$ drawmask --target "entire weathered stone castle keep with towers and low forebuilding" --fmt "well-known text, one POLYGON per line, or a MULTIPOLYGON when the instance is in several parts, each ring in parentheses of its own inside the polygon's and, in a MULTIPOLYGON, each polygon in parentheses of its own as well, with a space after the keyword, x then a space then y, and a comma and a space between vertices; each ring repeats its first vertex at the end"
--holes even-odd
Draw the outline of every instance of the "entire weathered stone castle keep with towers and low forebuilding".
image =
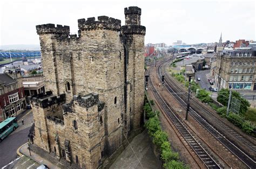
POLYGON ((34 147, 82 168, 97 168, 139 129, 144 104, 141 9, 125 25, 106 16, 69 26, 37 25, 46 94, 31 97, 34 147))

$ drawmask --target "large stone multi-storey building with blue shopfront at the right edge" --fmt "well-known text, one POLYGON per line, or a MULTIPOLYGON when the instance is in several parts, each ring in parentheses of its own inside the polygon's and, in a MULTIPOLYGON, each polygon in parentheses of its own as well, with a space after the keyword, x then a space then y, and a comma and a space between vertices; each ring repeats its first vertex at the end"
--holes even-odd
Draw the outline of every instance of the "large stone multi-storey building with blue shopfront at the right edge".
POLYGON ((222 51, 217 55, 215 82, 218 87, 256 90, 256 48, 222 51))

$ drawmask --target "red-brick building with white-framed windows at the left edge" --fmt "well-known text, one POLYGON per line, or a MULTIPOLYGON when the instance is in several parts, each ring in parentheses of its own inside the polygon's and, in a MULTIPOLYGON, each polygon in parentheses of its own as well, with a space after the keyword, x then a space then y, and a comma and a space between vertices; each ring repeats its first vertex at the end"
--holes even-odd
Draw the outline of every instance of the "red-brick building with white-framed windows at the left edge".
POLYGON ((0 122, 17 116, 26 108, 21 69, 6 69, 0 73, 0 122))

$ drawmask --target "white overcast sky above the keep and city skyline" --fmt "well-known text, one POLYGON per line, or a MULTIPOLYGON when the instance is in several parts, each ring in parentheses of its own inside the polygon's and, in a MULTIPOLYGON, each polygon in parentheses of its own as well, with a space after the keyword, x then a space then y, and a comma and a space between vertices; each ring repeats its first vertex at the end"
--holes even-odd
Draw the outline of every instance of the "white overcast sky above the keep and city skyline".
POLYGON ((145 44, 183 40, 187 44, 238 39, 255 40, 254 1, 87 1, 1 0, 0 45, 39 44, 36 25, 69 25, 77 33, 77 19, 109 16, 122 20, 124 8, 142 9, 145 44))

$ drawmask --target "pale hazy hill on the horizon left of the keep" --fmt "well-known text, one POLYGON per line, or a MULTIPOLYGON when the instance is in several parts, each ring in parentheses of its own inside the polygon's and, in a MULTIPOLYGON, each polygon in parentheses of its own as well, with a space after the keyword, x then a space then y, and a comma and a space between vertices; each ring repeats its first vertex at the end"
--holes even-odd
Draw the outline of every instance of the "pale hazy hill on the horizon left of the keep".
POLYGON ((28 51, 40 51, 40 45, 2 45, 0 50, 28 50, 28 51))

